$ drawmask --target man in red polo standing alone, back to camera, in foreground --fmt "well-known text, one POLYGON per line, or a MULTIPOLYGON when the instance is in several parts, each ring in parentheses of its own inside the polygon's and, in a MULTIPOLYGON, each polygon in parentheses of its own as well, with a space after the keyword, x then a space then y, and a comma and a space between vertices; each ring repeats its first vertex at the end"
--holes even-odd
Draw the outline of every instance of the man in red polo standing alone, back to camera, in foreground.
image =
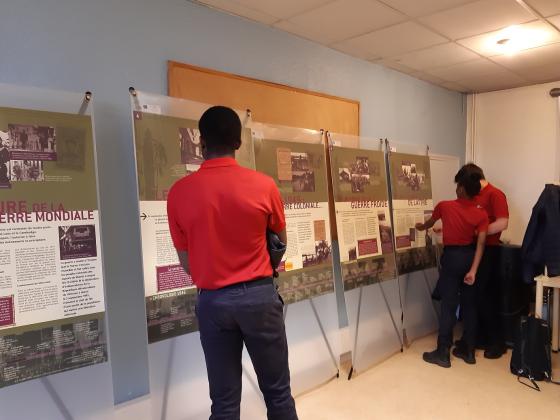
POLYGON ((210 419, 239 419, 245 344, 268 418, 294 420, 283 302, 266 243, 267 229, 286 243, 282 199, 271 178, 235 161, 241 121, 233 110, 212 107, 198 124, 205 162, 173 185, 167 214, 181 265, 199 291, 210 419))

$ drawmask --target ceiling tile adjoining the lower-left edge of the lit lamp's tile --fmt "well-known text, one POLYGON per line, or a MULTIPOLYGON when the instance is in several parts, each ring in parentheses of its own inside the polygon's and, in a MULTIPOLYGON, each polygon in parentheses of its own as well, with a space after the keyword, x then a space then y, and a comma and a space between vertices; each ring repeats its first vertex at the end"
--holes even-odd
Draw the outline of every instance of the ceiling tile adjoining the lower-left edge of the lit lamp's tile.
POLYGON ((447 43, 419 51, 413 51, 395 57, 394 60, 405 66, 412 67, 413 69, 426 70, 434 67, 450 66, 452 64, 474 60, 475 58, 478 58, 478 56, 466 48, 454 43, 447 43))

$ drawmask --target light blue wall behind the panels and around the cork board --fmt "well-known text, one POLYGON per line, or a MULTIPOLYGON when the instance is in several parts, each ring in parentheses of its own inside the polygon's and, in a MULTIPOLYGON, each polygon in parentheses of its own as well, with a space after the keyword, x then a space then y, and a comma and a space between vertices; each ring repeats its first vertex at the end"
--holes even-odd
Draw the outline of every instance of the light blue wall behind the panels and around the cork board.
POLYGON ((117 400, 146 391, 127 89, 165 94, 169 59, 357 99, 362 135, 464 156, 460 94, 289 34, 186 0, 0 0, 0 82, 94 93, 117 400))

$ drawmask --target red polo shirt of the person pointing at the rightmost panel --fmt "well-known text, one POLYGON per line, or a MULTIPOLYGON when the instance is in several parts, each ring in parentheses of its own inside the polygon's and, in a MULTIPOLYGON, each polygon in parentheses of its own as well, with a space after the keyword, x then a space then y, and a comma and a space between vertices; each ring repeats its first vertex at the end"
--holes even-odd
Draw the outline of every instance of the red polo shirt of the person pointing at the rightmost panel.
POLYGON ((432 219, 442 221, 444 245, 471 245, 476 232, 488 231, 488 216, 484 210, 474 201, 462 198, 439 203, 432 219))

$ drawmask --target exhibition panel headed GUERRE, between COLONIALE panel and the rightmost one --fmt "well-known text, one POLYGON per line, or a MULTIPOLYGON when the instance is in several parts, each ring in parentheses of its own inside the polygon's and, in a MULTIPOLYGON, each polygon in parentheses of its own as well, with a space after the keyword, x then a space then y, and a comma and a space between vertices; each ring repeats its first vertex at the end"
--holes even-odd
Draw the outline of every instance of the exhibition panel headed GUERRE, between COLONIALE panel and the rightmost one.
POLYGON ((402 349, 384 145, 330 132, 328 138, 352 373, 363 372, 402 349))

